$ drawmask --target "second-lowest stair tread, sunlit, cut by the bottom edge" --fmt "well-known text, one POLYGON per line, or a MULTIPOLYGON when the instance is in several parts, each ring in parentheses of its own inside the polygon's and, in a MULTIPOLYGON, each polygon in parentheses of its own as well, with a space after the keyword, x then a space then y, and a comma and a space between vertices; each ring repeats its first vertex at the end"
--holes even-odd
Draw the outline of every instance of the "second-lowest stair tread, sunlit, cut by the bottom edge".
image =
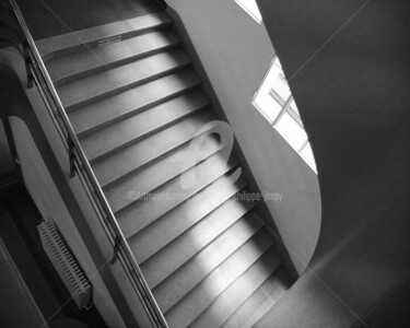
POLYGON ((236 279, 201 315, 191 327, 221 327, 281 265, 281 258, 271 247, 249 270, 236 279))

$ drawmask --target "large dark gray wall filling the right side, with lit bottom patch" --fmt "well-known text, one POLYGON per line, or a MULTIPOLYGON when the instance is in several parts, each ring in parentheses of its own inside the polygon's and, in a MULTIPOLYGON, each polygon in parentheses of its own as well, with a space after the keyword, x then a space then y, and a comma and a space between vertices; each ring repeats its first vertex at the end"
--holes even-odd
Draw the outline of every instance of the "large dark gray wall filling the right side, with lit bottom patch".
POLYGON ((323 202, 314 274, 260 327, 408 327, 410 3, 257 1, 293 75, 323 202))

